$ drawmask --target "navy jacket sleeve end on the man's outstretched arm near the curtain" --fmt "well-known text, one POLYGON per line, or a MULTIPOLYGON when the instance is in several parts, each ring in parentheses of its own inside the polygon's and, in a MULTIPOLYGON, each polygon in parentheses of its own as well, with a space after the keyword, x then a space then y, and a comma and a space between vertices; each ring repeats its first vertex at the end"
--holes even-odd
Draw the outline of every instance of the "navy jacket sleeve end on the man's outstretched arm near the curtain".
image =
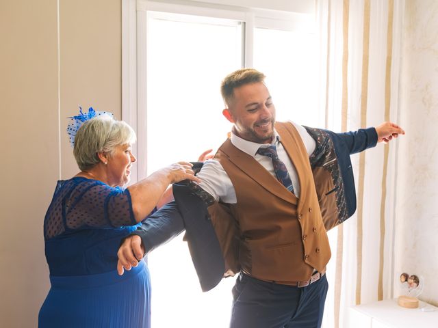
POLYGON ((377 143, 375 128, 361 128, 358 131, 336 133, 335 136, 344 141, 349 154, 356 154, 375 147, 377 143))

